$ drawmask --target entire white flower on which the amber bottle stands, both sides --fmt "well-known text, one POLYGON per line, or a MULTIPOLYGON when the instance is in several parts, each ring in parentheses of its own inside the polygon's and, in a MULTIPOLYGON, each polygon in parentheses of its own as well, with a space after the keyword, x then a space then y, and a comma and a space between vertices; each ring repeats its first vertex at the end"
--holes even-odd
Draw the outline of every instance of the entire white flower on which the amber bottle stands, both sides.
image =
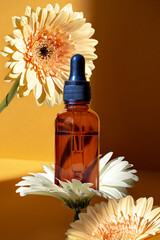
POLYGON ((81 183, 76 179, 72 179, 72 182, 60 181, 61 187, 59 187, 54 183, 54 165, 51 165, 53 169, 43 165, 44 173, 31 173, 33 176, 23 177, 23 180, 16 184, 19 186, 16 192, 20 193, 20 196, 33 194, 56 197, 78 213, 86 208, 96 195, 104 198, 120 198, 127 194, 126 187, 131 187, 138 177, 134 175, 136 170, 128 170, 132 165, 123 161, 123 158, 109 161, 112 154, 108 153, 100 159, 99 191, 92 188, 92 183, 81 183))

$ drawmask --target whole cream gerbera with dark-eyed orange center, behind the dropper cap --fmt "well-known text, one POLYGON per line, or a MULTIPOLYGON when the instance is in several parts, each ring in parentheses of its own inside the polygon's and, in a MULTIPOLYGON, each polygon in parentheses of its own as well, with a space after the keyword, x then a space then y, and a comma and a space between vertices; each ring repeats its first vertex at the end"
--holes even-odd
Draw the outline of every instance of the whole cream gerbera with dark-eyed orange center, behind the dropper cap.
POLYGON ((97 41, 90 39, 94 29, 85 21, 83 13, 73 12, 71 4, 61 10, 58 4, 36 11, 28 6, 25 16, 13 17, 15 30, 5 36, 8 45, 1 54, 10 58, 5 67, 11 71, 5 80, 20 79, 19 97, 33 90, 39 105, 44 101, 48 106, 60 104, 75 53, 85 57, 86 77, 90 78, 97 41))

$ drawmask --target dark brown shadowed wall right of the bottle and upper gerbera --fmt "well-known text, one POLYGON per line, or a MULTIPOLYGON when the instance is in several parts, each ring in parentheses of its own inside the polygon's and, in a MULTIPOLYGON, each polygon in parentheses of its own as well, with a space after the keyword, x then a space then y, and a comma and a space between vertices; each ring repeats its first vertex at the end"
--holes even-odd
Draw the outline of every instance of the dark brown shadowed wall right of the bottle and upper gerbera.
POLYGON ((92 106, 101 153, 160 169, 160 1, 94 1, 98 60, 92 106))

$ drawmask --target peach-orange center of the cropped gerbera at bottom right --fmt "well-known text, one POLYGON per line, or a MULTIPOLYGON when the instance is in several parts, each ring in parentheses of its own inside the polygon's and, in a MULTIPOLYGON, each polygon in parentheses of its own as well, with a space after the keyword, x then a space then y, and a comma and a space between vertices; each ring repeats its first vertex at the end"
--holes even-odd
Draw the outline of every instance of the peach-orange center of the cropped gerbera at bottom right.
POLYGON ((135 240, 145 220, 138 216, 112 217, 103 221, 92 234, 92 240, 135 240))

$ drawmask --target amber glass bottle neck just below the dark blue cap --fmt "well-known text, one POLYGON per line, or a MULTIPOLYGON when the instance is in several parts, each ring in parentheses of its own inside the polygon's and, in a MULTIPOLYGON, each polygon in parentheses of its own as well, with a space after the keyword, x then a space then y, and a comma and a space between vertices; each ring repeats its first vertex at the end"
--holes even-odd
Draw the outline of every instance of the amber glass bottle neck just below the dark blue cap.
POLYGON ((67 109, 81 109, 88 110, 90 107, 90 102, 86 101, 69 101, 65 102, 65 108, 67 109))

